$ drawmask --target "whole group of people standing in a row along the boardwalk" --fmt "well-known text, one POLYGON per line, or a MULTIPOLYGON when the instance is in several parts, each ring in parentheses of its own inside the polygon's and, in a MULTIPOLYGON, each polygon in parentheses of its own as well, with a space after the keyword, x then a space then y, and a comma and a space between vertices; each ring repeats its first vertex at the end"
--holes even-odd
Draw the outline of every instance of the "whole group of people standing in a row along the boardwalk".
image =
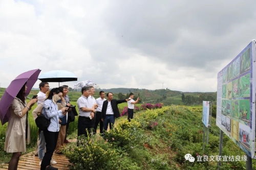
MULTIPOLYGON (((22 152, 26 152, 26 141, 30 143, 30 129, 28 122, 28 111, 37 103, 37 107, 33 110, 34 119, 38 113, 43 114, 50 120, 50 125, 45 130, 39 130, 37 147, 35 155, 40 159, 40 169, 58 169, 51 164, 57 162, 53 160, 53 153, 62 154, 60 148, 63 143, 68 143, 67 131, 72 112, 70 99, 67 93, 69 87, 64 85, 53 88, 49 91, 49 83, 41 82, 39 84, 40 91, 35 99, 26 102, 26 83, 20 89, 11 106, 9 107, 10 119, 6 132, 5 151, 12 153, 9 161, 8 169, 17 169, 19 157, 22 152), (18 141, 18 142, 17 142, 18 141)), ((131 122, 133 118, 134 104, 138 103, 140 98, 133 100, 134 94, 130 93, 129 99, 116 100, 113 99, 113 93, 100 91, 100 97, 94 98, 94 87, 83 87, 81 89, 81 97, 77 100, 79 109, 77 136, 88 136, 96 134, 99 125, 100 134, 104 135, 104 131, 113 128, 115 118, 120 116, 117 105, 120 103, 128 103, 128 120, 131 122)), ((72 115, 73 114, 73 115, 72 115)), ((74 118, 73 118, 74 119, 74 118)))

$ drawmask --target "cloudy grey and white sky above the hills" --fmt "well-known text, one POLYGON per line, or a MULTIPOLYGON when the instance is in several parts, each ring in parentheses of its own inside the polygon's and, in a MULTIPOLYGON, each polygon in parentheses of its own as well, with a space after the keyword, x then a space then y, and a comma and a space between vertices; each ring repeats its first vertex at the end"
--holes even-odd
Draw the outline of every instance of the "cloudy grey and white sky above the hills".
POLYGON ((160 89, 163 83, 172 90, 217 91, 218 72, 256 39, 255 5, 0 0, 0 85, 39 68, 41 74, 72 71, 78 82, 101 88, 160 89))

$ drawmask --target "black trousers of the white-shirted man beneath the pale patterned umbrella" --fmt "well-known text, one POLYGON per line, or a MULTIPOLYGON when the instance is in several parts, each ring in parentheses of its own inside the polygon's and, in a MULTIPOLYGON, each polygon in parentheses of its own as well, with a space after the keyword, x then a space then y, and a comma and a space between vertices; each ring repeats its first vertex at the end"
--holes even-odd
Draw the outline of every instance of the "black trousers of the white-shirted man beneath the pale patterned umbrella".
POLYGON ((88 136, 91 134, 91 129, 93 128, 93 121, 89 117, 79 116, 78 117, 78 129, 77 129, 77 137, 84 135, 88 136))

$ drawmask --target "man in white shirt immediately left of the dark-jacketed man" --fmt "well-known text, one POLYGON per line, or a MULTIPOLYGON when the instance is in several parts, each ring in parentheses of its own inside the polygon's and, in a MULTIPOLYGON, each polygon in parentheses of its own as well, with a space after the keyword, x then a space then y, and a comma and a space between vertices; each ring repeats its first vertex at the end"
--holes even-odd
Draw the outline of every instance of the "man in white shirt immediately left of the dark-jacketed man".
POLYGON ((100 91, 99 92, 99 98, 96 99, 96 103, 98 105, 97 107, 97 112, 96 112, 96 120, 95 120, 95 124, 94 124, 94 132, 96 134, 96 131, 97 131, 97 128, 98 128, 98 125, 99 125, 99 133, 100 134, 103 134, 103 119, 101 117, 101 110, 102 110, 102 105, 103 105, 103 102, 106 100, 104 97, 105 97, 105 92, 104 91, 100 91))

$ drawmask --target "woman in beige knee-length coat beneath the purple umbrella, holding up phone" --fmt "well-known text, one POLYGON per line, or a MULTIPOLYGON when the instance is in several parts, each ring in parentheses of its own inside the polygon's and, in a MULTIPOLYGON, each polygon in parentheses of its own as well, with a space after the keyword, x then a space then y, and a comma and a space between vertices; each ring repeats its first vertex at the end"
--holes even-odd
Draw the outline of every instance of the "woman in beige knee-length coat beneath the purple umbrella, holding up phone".
POLYGON ((17 169, 19 157, 26 152, 26 141, 30 143, 30 129, 28 124, 28 111, 37 99, 26 102, 27 82, 19 90, 9 107, 10 119, 6 132, 5 151, 12 153, 8 169, 17 169))

